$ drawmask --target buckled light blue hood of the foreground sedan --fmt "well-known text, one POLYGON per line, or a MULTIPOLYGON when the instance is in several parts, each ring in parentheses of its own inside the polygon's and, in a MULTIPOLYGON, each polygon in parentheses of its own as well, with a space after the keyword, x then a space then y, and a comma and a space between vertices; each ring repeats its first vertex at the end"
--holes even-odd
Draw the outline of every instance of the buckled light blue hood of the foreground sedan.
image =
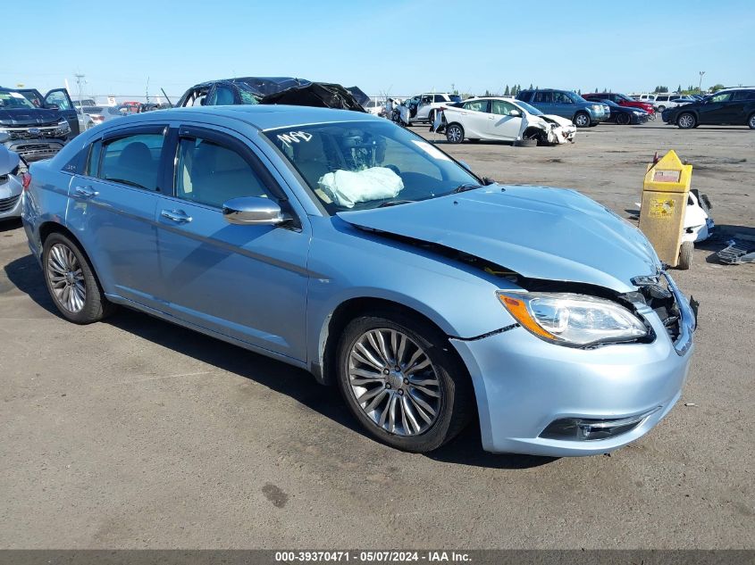
POLYGON ((650 242, 628 221, 574 190, 491 185, 457 195, 339 212, 360 228, 469 253, 527 278, 608 287, 658 274, 650 242))

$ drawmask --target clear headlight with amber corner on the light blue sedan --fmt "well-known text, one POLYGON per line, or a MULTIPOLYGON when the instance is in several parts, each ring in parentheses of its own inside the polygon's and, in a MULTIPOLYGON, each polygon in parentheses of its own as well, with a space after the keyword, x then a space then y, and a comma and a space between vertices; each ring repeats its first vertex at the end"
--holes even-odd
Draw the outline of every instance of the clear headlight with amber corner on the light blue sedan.
POLYGON ((582 347, 633 341, 648 328, 624 306, 588 295, 498 292, 500 303, 535 336, 582 347))

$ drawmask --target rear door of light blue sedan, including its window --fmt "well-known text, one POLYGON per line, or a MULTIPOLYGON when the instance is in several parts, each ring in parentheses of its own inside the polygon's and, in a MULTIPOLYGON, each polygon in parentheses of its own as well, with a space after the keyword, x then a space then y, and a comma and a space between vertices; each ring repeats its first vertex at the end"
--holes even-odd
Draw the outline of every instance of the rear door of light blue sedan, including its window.
POLYGON ((160 308, 155 209, 163 189, 166 124, 110 130, 71 179, 68 228, 95 264, 105 293, 160 308))

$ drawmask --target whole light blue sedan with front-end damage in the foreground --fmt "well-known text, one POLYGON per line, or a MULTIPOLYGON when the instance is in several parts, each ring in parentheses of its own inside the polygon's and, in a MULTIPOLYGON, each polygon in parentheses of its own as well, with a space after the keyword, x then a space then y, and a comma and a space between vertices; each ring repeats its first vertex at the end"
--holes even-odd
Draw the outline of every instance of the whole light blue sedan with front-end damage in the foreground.
POLYGON ((24 228, 64 318, 127 306, 309 370, 400 449, 477 420, 491 452, 607 453, 681 395, 695 314, 636 228, 388 120, 148 112, 30 175, 24 228))

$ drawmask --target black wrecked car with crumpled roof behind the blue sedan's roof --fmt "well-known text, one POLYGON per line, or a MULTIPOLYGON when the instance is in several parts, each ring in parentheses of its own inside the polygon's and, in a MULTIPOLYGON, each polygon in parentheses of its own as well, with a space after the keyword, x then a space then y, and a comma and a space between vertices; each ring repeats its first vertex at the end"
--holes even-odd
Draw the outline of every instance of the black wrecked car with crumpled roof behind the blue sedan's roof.
POLYGON ((210 80, 190 87, 176 106, 290 104, 366 112, 369 101, 359 88, 292 77, 240 77, 210 80))

